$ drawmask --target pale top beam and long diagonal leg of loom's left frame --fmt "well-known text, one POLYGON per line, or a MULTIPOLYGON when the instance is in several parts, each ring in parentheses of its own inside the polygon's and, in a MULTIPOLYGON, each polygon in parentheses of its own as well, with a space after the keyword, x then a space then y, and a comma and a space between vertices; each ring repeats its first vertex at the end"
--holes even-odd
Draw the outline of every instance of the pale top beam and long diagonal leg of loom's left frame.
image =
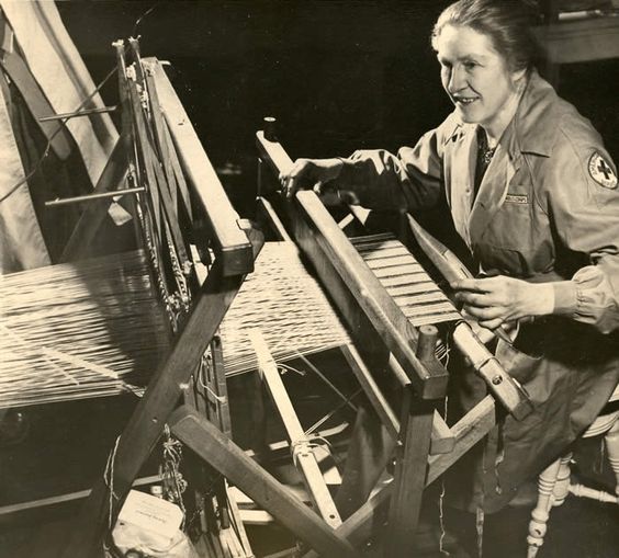
MULTIPOLYGON (((125 156, 128 156, 131 152, 128 145, 131 145, 132 137, 137 136, 143 141, 147 138, 145 138, 143 130, 138 129, 140 127, 139 121, 132 124, 126 116, 130 110, 133 110, 134 113, 140 111, 139 100, 136 99, 135 84, 127 83, 130 80, 126 78, 122 44, 114 46, 119 60, 121 101, 124 109, 124 129, 121 138, 126 140, 126 143, 119 140, 119 144, 127 148, 125 156)), ((139 65, 139 50, 136 41, 131 42, 131 49, 139 65)), ((215 339, 218 327, 238 293, 245 275, 254 270, 254 260, 263 242, 261 236, 251 229, 248 221, 239 219, 232 207, 160 62, 154 58, 148 61, 150 68, 148 82, 150 87, 156 88, 155 91, 158 92, 162 101, 161 105, 158 105, 157 98, 151 98, 153 112, 156 119, 158 119, 157 116, 164 116, 170 133, 168 138, 162 136, 161 134, 165 134, 166 128, 161 128, 161 121, 156 122, 155 126, 159 127, 156 140, 173 140, 176 149, 180 153, 178 161, 173 157, 165 161, 167 176, 162 175, 164 171, 155 172, 155 175, 148 176, 148 182, 151 185, 150 194, 157 194, 157 192, 153 192, 156 190, 154 186, 166 186, 164 184, 166 178, 168 180, 173 179, 168 186, 171 190, 179 187, 178 198, 170 196, 170 191, 168 191, 165 192, 162 200, 164 205, 168 205, 164 210, 168 214, 168 217, 173 217, 176 204, 175 207, 171 207, 170 202, 172 200, 172 203, 178 201, 182 205, 185 201, 189 201, 188 193, 184 191, 185 183, 180 178, 184 174, 188 175, 187 185, 191 189, 192 201, 200 206, 207 221, 205 230, 201 231, 204 238, 198 240, 204 247, 212 248, 214 259, 206 278, 194 294, 192 308, 187 319, 183 320, 182 330, 177 335, 169 357, 151 378, 144 397, 119 437, 117 446, 112 456, 113 472, 109 481, 110 486, 102 475, 85 502, 82 513, 74 525, 72 536, 64 548, 63 556, 67 558, 90 557, 100 554, 100 545, 108 528, 114 524, 126 494, 159 440, 167 419, 177 408, 179 398, 188 394, 190 377, 198 368, 204 352, 215 339), (161 112, 159 113, 159 111, 161 112), (110 492, 113 493, 112 497, 110 492)), ((142 68, 142 66, 139 67, 142 68)), ((144 80, 144 82, 146 81, 144 80)), ((143 145, 143 147, 145 146, 143 145)), ((113 169, 119 168, 116 161, 110 164, 113 169)), ((127 162, 127 169, 135 172, 132 164, 132 162, 127 162)), ((150 170, 154 171, 156 167, 154 164, 150 170)), ((112 174, 119 176, 116 172, 112 174)), ((97 214, 100 215, 103 210, 106 210, 106 205, 98 205, 97 214)), ((189 207, 185 206, 184 210, 191 214, 189 207)), ((86 225, 80 225, 80 227, 82 226, 86 225)), ((178 226, 178 223, 172 223, 172 227, 175 226, 178 226)), ((92 238, 94 229, 95 227, 89 228, 89 234, 85 238, 92 238)), ((195 411, 192 410, 191 412, 195 411)), ((216 426, 213 428, 216 429, 216 426)))

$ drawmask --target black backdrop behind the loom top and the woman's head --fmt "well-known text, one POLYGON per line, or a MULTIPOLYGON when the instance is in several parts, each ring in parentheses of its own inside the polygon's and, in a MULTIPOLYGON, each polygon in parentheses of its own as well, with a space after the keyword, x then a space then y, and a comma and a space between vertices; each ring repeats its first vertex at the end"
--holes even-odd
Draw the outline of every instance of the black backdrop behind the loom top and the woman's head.
MULTIPOLYGON (((429 44, 449 1, 59 2, 95 80, 114 65, 111 42, 140 35, 145 56, 167 59, 188 113, 230 196, 254 197, 254 134, 279 121, 292 157, 348 155, 413 144, 450 104, 429 44)), ((569 65, 560 93, 619 158, 609 77, 618 60, 569 65)), ((113 102, 114 83, 103 89, 113 102)))

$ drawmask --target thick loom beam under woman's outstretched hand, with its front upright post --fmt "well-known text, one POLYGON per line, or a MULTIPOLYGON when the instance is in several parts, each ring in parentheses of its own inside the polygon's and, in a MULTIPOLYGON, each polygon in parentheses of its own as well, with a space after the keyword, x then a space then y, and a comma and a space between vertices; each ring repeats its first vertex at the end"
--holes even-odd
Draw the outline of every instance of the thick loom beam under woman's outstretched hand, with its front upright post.
MULTIPOLYGON (((260 159, 271 167, 275 175, 292 166, 292 160, 281 145, 265 137, 263 132, 257 134, 257 147, 260 159)), ((386 294, 313 191, 296 192, 286 205, 286 213, 292 236, 312 261, 350 330, 361 339, 360 346, 372 346, 371 340, 375 345, 376 335, 386 345, 386 351, 382 350, 382 354, 362 355, 368 361, 368 368, 381 366, 391 352, 405 372, 404 375, 394 374, 402 388, 398 442, 392 439, 397 453, 393 481, 397 498, 390 499, 390 544, 389 549, 385 549, 385 556, 405 556, 413 549, 413 534, 417 527, 426 485, 435 410, 447 392, 448 373, 434 354, 426 355, 424 361, 417 356, 417 330, 386 294)), ((359 446, 362 442, 357 439, 353 444, 359 446)), ((360 448, 356 448, 354 453, 360 456, 364 454, 360 448)), ((391 452, 384 452, 382 459, 370 463, 369 478, 373 478, 374 482, 387 465, 390 455, 391 452)), ((361 459, 361 463, 352 465, 354 467, 364 468, 368 465, 361 459)), ((346 485, 346 475, 344 482, 340 490, 364 497, 373 488, 372 481, 369 481, 372 486, 346 485)), ((362 509, 369 511, 375 520, 376 509, 373 505, 362 509)), ((342 525, 349 524, 351 517, 342 525)), ((341 528, 342 526, 338 531, 341 528)))

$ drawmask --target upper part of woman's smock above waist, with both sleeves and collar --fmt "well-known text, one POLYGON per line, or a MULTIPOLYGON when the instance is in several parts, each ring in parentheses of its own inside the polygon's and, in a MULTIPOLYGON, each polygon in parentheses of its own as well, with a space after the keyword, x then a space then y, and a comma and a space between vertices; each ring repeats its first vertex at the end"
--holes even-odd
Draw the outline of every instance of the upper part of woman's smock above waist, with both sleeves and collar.
POLYGON ((599 134, 533 71, 476 196, 477 125, 451 114, 397 156, 354 152, 338 182, 371 208, 447 198, 481 270, 552 281, 555 312, 619 328, 619 189, 599 134))

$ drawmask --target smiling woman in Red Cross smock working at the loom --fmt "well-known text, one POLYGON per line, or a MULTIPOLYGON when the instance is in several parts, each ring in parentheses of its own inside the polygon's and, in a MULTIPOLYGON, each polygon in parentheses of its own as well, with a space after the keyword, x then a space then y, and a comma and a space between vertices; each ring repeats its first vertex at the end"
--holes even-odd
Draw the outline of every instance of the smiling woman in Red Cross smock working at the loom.
MULTIPOLYGON (((522 2, 450 5, 432 47, 453 113, 397 156, 301 159, 282 176, 289 195, 335 181, 340 195, 373 208, 447 201, 477 266, 477 278, 451 285, 455 297, 486 328, 518 328, 497 357, 536 405, 526 420, 505 420, 500 451, 484 452, 473 508, 487 511, 556 458, 619 379, 617 170, 590 123, 533 68, 530 22, 522 2)), ((485 387, 460 376, 465 411, 485 387)))

